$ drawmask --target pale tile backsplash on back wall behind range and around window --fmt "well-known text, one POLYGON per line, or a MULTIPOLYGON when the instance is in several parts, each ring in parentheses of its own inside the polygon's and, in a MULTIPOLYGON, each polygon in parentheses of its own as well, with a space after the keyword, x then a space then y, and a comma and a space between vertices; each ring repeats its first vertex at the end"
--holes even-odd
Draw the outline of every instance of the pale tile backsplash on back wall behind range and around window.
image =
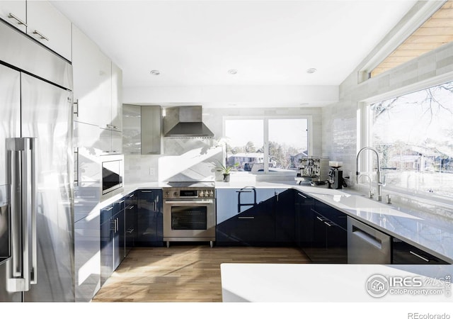
POLYGON ((202 119, 215 138, 162 138, 161 155, 125 155, 125 183, 222 179, 214 163, 222 162, 224 116, 311 116, 313 150, 321 155, 321 108, 206 108, 202 119))

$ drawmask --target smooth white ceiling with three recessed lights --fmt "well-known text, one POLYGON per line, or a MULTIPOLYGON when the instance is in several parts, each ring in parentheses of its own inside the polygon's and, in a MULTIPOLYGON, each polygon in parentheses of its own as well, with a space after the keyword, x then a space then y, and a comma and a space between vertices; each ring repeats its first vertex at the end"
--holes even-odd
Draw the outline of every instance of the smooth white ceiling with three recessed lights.
POLYGON ((339 85, 416 1, 51 2, 135 87, 339 85))

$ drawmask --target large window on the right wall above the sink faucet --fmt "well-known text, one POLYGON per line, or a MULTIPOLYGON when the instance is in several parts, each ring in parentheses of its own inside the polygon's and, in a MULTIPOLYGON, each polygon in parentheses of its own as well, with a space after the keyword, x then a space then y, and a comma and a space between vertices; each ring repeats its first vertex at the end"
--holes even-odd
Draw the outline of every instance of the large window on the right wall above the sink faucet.
POLYGON ((387 186, 453 198, 453 82, 373 103, 387 186))

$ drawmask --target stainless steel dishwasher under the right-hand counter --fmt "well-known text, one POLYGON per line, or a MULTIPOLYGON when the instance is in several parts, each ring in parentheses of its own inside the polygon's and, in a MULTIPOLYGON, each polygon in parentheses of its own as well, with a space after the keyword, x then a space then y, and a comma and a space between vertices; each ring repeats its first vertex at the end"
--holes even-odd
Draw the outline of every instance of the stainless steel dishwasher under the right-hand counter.
POLYGON ((391 264, 391 237, 348 216, 348 264, 391 264))

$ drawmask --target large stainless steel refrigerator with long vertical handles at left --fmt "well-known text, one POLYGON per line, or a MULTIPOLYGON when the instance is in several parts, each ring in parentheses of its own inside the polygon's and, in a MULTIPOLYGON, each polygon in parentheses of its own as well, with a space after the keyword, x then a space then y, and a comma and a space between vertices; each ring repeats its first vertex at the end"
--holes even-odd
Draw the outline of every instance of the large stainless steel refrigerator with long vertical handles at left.
POLYGON ((74 301, 72 68, 0 21, 0 301, 74 301))

